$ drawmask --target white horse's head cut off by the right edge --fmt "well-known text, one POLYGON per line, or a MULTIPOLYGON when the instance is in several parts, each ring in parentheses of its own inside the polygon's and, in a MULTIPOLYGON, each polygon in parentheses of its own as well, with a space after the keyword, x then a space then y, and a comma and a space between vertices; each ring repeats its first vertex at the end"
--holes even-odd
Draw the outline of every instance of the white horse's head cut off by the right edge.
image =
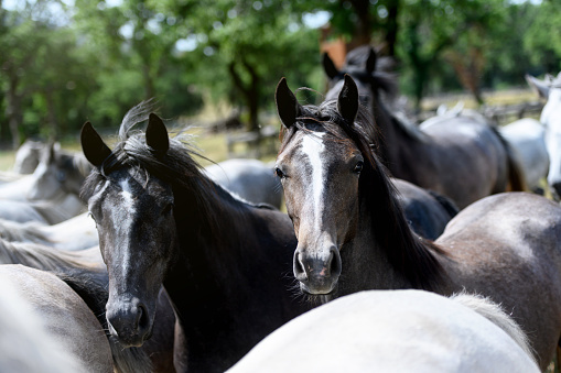
POLYGON ((540 122, 546 127, 546 144, 550 158, 548 184, 559 199, 561 197, 561 73, 546 80, 527 75, 526 80, 540 97, 548 100, 541 110, 540 122))

